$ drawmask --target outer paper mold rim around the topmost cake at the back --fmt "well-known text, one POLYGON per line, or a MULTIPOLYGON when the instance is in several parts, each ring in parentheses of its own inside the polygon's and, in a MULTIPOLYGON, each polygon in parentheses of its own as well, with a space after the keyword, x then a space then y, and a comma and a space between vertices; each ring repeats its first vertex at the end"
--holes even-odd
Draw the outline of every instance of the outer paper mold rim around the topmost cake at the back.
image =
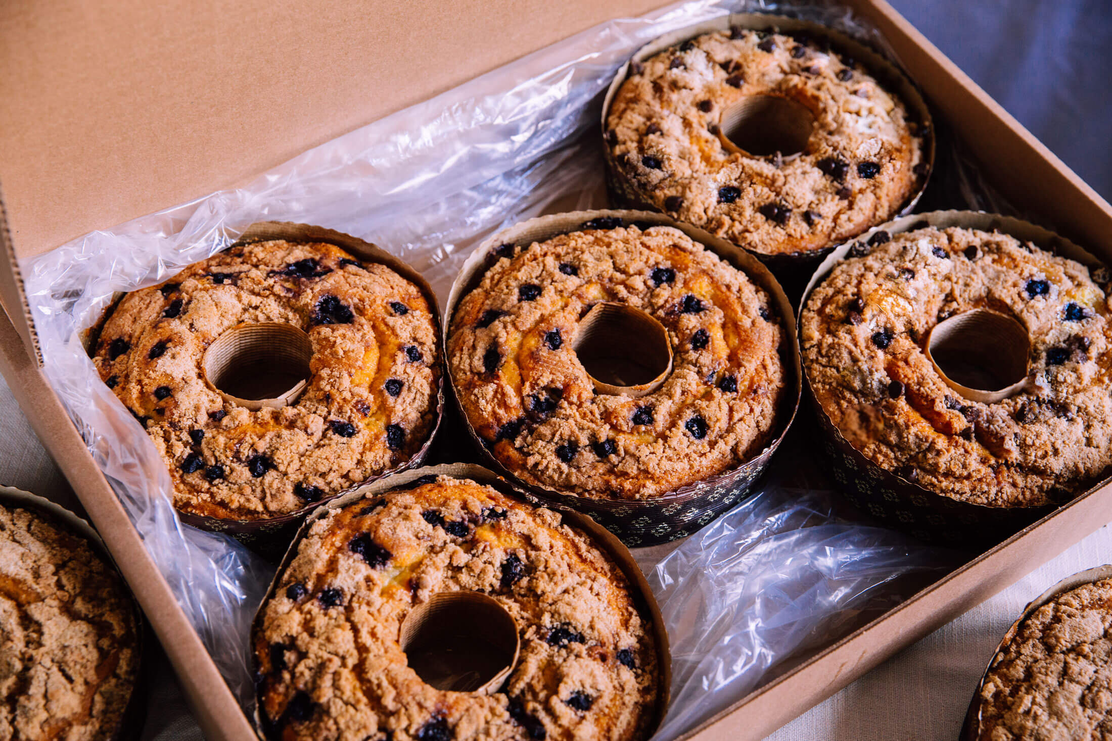
MULTIPOLYGON (((870 74, 876 78, 890 94, 894 93, 905 107, 919 117, 919 120, 927 129, 926 136, 923 137, 922 147, 923 162, 926 163, 926 172, 920 178, 919 187, 912 192, 904 204, 897 209, 896 217, 911 213, 915 208, 915 204, 919 203, 919 199, 923 196, 923 191, 926 190, 926 186, 931 180, 931 174, 934 171, 934 121, 931 117, 931 110, 927 108, 926 101, 923 99, 923 93, 903 70, 896 67, 896 64, 892 61, 888 61, 888 59, 883 57, 873 47, 846 36, 841 31, 832 29, 828 26, 823 26, 822 23, 768 13, 734 13, 703 21, 702 23, 695 23, 693 26, 673 31, 672 33, 666 33, 665 36, 654 39, 638 49, 631 60, 618 69, 617 73, 614 76, 614 80, 610 82, 610 87, 606 91, 606 97, 603 100, 603 116, 600 121, 603 152, 606 162, 606 184, 607 190, 609 191, 615 203, 631 209, 644 209, 651 211, 657 210, 655 204, 649 202, 639 193, 633 180, 625 177, 622 168, 618 167, 618 163, 614 160, 614 154, 606 141, 606 119, 609 118, 610 103, 614 101, 614 97, 622 88, 622 83, 625 82, 626 78, 629 76, 629 64, 635 61, 642 62, 645 59, 668 49, 669 47, 674 47, 697 36, 709 33, 712 31, 728 30, 732 26, 759 31, 806 31, 816 37, 828 39, 832 42, 831 46, 834 51, 846 53, 853 59, 864 63, 864 66, 868 69, 870 74)), ((742 249, 747 249, 744 246, 739 247, 742 247, 742 249)), ((820 250, 777 254, 764 254, 755 250, 747 251, 765 263, 782 280, 786 280, 787 277, 794 277, 803 271, 811 272, 823 258, 833 251, 833 249, 834 247, 832 246, 820 250)), ((800 277, 805 278, 805 276, 800 277)))

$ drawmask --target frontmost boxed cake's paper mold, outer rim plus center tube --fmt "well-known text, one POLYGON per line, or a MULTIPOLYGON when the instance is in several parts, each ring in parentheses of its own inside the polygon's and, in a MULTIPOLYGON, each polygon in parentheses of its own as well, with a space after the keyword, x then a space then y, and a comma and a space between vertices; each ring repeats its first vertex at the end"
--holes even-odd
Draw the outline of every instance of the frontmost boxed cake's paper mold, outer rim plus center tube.
MULTIPOLYGON (((499 493, 528 507, 544 507, 525 491, 515 488, 493 471, 474 463, 446 463, 417 468, 397 473, 389 479, 364 484, 346 492, 311 512, 278 565, 275 579, 256 613, 252 623, 252 645, 259 635, 262 615, 298 548, 315 522, 329 512, 347 507, 363 499, 379 500, 391 491, 411 489, 437 477, 466 479, 488 485, 499 493)), ((634 598, 634 605, 652 637, 657 665, 657 693, 652 719, 645 738, 652 735, 664 719, 668 705, 672 681, 672 658, 668 650, 668 634, 661 615, 656 598, 641 568, 628 549, 609 531, 585 514, 558 509, 562 524, 587 535, 595 547, 606 553, 625 577, 634 598)), ((509 612, 496 599, 483 592, 457 590, 434 592, 425 601, 415 602, 401 620, 397 641, 406 654, 407 665, 418 678, 438 690, 471 694, 494 694, 498 692, 517 668, 523 638, 536 630, 534 625, 517 624, 509 612)), ((254 668, 260 671, 258 652, 251 652, 254 668)), ((256 704, 255 723, 262 738, 267 735, 267 723, 256 704)))

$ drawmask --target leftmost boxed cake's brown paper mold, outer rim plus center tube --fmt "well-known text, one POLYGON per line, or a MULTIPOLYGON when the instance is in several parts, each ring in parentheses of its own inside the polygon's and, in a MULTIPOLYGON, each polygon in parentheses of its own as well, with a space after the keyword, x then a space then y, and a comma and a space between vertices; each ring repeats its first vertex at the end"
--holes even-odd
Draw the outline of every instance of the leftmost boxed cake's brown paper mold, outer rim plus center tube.
MULTIPOLYGON (((252 242, 285 240, 291 243, 321 242, 335 244, 366 262, 381 263, 416 284, 429 306, 434 322, 439 322, 436 296, 419 272, 381 248, 349 234, 309 224, 267 221, 251 224, 227 249, 252 242)), ((98 327, 90 333, 89 347, 97 347, 97 334, 115 306, 105 312, 98 327)), ((440 331, 436 326, 437 370, 435 418, 427 437, 417 452, 407 461, 381 471, 369 480, 396 471, 420 465, 428 454, 433 438, 444 413, 445 367, 440 347, 440 331)), ((219 394, 226 404, 251 411, 262 408, 281 409, 295 405, 298 398, 312 383, 310 364, 314 346, 306 329, 280 322, 240 323, 215 338, 205 349, 201 373, 206 384, 219 394)), ((338 495, 336 492, 331 497, 338 495)), ((306 513, 328 501, 324 497, 296 511, 274 517, 235 519, 214 517, 179 509, 182 522, 216 532, 226 532, 265 555, 277 558, 289 543, 306 513)))

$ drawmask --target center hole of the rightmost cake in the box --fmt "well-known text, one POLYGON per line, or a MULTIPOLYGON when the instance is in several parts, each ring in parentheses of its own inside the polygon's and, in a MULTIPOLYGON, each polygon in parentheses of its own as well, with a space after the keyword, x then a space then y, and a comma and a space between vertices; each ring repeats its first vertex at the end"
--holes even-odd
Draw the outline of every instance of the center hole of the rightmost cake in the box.
POLYGON ((1003 391, 1027 375, 1031 338, 1016 319, 974 309, 939 323, 931 359, 943 375, 969 389, 1003 391))

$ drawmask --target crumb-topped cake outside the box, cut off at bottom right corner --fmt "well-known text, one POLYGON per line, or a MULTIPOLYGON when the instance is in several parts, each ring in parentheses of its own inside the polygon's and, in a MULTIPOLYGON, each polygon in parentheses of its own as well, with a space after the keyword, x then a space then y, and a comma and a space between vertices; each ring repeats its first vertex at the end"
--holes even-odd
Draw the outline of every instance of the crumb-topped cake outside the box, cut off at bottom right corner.
POLYGON ((981 687, 981 741, 1112 739, 1112 580, 1020 623, 981 687))

